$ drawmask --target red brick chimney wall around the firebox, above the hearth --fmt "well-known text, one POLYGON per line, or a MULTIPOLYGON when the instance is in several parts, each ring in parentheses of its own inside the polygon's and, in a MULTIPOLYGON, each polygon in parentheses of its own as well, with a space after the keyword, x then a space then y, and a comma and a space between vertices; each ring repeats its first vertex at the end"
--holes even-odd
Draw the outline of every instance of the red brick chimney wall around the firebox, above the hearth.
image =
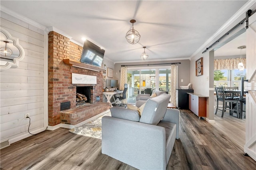
MULTIPOLYGON (((49 126, 55 126, 63 123, 61 103, 70 102, 70 109, 76 108, 76 87, 90 87, 91 105, 102 102, 103 71, 86 69, 86 65, 84 68, 78 68, 65 64, 64 59, 79 60, 82 47, 54 31, 48 34, 48 38, 48 123, 49 126), (72 84, 72 73, 96 76, 97 83, 72 84), (97 96, 100 96, 99 101, 96 101, 97 96)), ((90 117, 93 116, 95 115, 90 117)))

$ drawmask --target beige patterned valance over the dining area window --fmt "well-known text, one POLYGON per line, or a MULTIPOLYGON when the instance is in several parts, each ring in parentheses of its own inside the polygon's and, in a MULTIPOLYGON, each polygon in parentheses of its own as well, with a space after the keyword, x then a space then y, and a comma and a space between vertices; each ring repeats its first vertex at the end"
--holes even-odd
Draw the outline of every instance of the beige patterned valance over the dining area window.
POLYGON ((240 62, 244 64, 246 69, 246 58, 214 59, 214 71, 238 69, 238 63, 240 62))

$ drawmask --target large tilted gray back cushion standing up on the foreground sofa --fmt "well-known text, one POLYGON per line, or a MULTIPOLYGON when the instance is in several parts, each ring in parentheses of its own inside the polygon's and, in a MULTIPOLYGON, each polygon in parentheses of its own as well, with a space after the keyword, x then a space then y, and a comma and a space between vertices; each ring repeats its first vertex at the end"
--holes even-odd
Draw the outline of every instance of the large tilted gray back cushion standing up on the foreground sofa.
POLYGON ((170 95, 163 93, 148 99, 145 103, 140 122, 157 125, 164 118, 170 95))

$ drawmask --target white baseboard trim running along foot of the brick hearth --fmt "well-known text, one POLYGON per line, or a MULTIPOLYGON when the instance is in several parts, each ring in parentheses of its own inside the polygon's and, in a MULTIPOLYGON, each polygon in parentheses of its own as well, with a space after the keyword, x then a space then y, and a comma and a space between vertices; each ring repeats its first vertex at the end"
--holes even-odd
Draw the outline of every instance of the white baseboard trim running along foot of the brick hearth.
POLYGON ((94 119, 97 119, 98 117, 100 117, 100 116, 102 116, 102 115, 104 115, 104 114, 106 114, 106 113, 108 113, 108 112, 110 112, 110 109, 108 109, 108 110, 106 110, 106 111, 104 111, 104 112, 102 112, 102 113, 100 113, 100 114, 98 114, 98 115, 95 115, 94 117, 91 117, 90 119, 87 119, 87 120, 85 120, 85 121, 82 121, 81 123, 78 123, 78 124, 76 124, 76 125, 68 125, 68 124, 60 123, 60 124, 55 125, 55 126, 48 126, 47 130, 56 130, 56 129, 58 129, 58 128, 68 128, 68 129, 72 129, 72 128, 75 128, 75 127, 79 127, 79 126, 81 126, 81 125, 84 125, 85 123, 88 123, 88 122, 90 122, 90 121, 92 121, 92 120, 94 120, 94 119))

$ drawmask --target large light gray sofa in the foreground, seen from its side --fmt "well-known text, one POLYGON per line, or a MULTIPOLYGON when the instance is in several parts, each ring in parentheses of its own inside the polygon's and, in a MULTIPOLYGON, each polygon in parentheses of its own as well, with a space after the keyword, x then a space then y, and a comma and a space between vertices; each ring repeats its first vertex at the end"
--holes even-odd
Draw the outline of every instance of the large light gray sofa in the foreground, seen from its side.
POLYGON ((102 117, 102 154, 138 169, 165 170, 179 138, 178 109, 167 109, 170 95, 148 99, 137 110, 112 107, 102 117))

